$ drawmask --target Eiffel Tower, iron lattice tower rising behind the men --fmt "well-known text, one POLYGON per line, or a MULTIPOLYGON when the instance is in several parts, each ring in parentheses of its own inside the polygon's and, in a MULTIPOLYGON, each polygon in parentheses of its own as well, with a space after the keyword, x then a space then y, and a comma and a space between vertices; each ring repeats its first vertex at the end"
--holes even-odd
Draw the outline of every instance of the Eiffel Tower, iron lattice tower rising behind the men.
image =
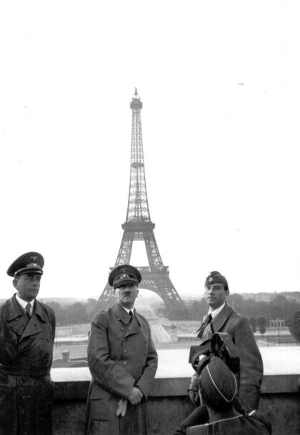
MULTIPOLYGON (((144 151, 141 136, 141 108, 143 104, 135 90, 130 108, 132 110, 131 130, 131 168, 129 200, 126 222, 119 254, 114 267, 129 264, 134 241, 144 241, 149 267, 139 267, 142 280, 141 289, 148 289, 158 294, 169 309, 185 310, 184 304, 169 278, 169 268, 164 266, 154 236, 155 224, 151 222, 144 169, 144 151)), ((113 268, 110 268, 111 270, 113 268)), ((98 303, 101 308, 108 308, 115 301, 114 291, 107 282, 98 303)))

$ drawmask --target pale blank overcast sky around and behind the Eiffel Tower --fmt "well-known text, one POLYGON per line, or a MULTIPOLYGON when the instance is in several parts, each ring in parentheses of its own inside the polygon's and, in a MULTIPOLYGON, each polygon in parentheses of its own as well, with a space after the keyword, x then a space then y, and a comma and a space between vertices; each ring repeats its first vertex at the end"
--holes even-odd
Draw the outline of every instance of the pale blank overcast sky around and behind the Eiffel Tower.
POLYGON ((135 86, 151 220, 179 294, 202 296, 211 270, 232 292, 300 291, 298 9, 1 2, 1 298, 31 250, 45 258, 41 296, 103 291, 126 219, 135 86))

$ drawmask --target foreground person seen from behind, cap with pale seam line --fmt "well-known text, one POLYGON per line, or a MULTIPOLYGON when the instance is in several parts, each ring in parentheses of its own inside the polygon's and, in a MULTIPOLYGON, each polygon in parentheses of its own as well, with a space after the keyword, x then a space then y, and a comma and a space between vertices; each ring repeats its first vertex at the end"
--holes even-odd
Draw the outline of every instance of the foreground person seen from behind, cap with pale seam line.
POLYGON ((219 357, 213 356, 199 377, 201 403, 209 422, 186 429, 186 435, 270 435, 271 424, 261 411, 241 414, 234 409, 236 377, 219 357))

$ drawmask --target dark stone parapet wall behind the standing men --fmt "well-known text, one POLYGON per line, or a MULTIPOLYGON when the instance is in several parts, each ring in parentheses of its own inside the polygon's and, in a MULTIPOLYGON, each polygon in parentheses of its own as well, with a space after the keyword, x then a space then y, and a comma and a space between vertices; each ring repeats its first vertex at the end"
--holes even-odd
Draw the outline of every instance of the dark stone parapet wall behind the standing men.
MULTIPOLYGON (((148 400, 148 435, 171 435, 192 411, 189 378, 156 379, 148 400)), ((83 435, 89 381, 54 384, 54 435, 83 435)), ((264 376, 260 409, 271 420, 273 435, 300 434, 298 375, 264 376)), ((114 434, 111 434, 114 435, 114 434)))

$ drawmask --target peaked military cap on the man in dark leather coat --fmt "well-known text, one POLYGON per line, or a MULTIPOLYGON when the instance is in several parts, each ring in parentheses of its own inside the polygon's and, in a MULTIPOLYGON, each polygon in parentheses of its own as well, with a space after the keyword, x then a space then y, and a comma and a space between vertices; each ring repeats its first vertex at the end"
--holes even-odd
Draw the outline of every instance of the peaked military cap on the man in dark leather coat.
POLYGON ((26 252, 19 256, 7 269, 9 276, 21 274, 43 274, 44 258, 39 252, 26 252))

